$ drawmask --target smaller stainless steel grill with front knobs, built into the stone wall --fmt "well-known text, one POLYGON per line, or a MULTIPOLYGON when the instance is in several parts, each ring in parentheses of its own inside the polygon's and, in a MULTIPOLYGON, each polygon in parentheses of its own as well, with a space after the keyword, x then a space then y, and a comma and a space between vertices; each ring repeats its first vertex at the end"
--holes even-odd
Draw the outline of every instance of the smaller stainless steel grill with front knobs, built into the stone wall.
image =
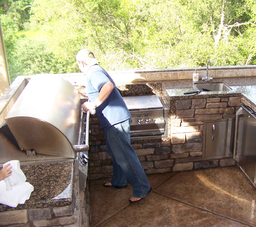
POLYGON ((167 108, 157 95, 127 96, 123 100, 132 115, 131 140, 167 137, 167 108))

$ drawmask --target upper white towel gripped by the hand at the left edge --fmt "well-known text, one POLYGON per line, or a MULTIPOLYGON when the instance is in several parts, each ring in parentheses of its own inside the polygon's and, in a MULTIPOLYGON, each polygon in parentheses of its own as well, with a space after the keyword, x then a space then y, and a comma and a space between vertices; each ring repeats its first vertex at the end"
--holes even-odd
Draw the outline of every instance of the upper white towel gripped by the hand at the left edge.
POLYGON ((24 182, 26 182, 27 179, 23 171, 20 169, 18 160, 9 161, 5 163, 3 166, 8 164, 11 164, 12 173, 10 176, 8 176, 8 178, 5 178, 5 183, 6 183, 6 190, 10 191, 12 190, 12 187, 23 184, 24 182))

